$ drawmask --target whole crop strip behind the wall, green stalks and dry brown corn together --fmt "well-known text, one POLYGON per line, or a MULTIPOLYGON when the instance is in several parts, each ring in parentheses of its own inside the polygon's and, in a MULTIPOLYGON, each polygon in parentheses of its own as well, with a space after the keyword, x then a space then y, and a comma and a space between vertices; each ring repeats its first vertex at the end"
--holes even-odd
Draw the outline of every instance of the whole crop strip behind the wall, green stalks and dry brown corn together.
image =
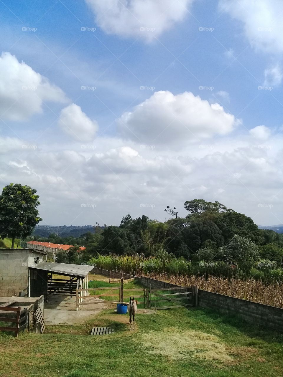
POLYGON ((90 263, 105 270, 135 273, 183 286, 197 285, 206 291, 283 308, 283 271, 278 268, 269 270, 268 275, 254 269, 252 277, 240 279, 240 271, 221 261, 206 268, 181 258, 98 255, 90 263))

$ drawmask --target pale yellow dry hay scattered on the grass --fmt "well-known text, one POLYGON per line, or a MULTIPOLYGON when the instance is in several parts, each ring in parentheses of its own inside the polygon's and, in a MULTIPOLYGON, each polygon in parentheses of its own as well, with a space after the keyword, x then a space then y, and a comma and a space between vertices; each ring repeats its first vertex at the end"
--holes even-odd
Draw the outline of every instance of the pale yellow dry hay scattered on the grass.
POLYGON ((229 361, 225 345, 219 343, 215 335, 200 331, 177 328, 165 328, 163 331, 151 331, 142 334, 139 339, 142 346, 149 348, 149 353, 160 354, 171 360, 197 357, 206 360, 229 361))

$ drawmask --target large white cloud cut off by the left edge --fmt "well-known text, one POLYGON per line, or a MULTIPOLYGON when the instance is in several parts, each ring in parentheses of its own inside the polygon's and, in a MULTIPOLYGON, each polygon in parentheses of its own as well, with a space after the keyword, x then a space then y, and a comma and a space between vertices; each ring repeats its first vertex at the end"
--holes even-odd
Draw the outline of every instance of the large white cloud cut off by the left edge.
POLYGON ((25 121, 42 113, 44 101, 65 103, 65 93, 9 52, 0 57, 0 116, 25 121))

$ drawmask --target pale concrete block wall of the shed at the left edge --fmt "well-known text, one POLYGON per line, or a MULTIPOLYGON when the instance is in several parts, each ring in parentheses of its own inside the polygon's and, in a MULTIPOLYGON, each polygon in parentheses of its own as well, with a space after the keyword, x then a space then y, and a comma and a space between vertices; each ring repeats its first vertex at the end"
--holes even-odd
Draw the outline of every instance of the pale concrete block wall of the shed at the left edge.
POLYGON ((17 296, 28 286, 28 250, 0 249, 0 296, 17 296))

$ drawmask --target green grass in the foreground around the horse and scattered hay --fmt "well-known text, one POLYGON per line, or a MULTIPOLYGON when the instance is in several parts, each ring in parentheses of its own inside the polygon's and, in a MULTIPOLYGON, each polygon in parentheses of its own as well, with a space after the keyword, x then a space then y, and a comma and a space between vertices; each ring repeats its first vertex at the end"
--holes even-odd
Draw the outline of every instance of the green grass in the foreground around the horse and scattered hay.
MULTIPOLYGON (((1 377, 271 377, 283 375, 283 336, 246 324, 237 317, 219 316, 201 309, 160 310, 157 314, 137 314, 136 330, 129 331, 128 316, 106 310, 83 325, 47 326, 42 335, 0 335, 1 377), (114 326, 115 333, 89 336, 93 326, 114 326), (174 327, 168 349, 177 347, 176 334, 185 330, 199 338, 195 351, 174 359, 153 354, 145 346, 151 336, 154 346, 162 343, 163 329, 174 327), (206 351, 205 336, 231 360, 200 359, 206 351)), ((190 338, 188 338, 190 339, 190 338)), ((187 339, 187 340, 188 340, 187 339)), ((168 340, 168 339, 167 339, 168 340)), ((186 340, 184 337, 183 340, 186 340)), ((192 338, 192 342, 195 338, 192 338)), ((209 348, 208 348, 209 349, 209 348)))

